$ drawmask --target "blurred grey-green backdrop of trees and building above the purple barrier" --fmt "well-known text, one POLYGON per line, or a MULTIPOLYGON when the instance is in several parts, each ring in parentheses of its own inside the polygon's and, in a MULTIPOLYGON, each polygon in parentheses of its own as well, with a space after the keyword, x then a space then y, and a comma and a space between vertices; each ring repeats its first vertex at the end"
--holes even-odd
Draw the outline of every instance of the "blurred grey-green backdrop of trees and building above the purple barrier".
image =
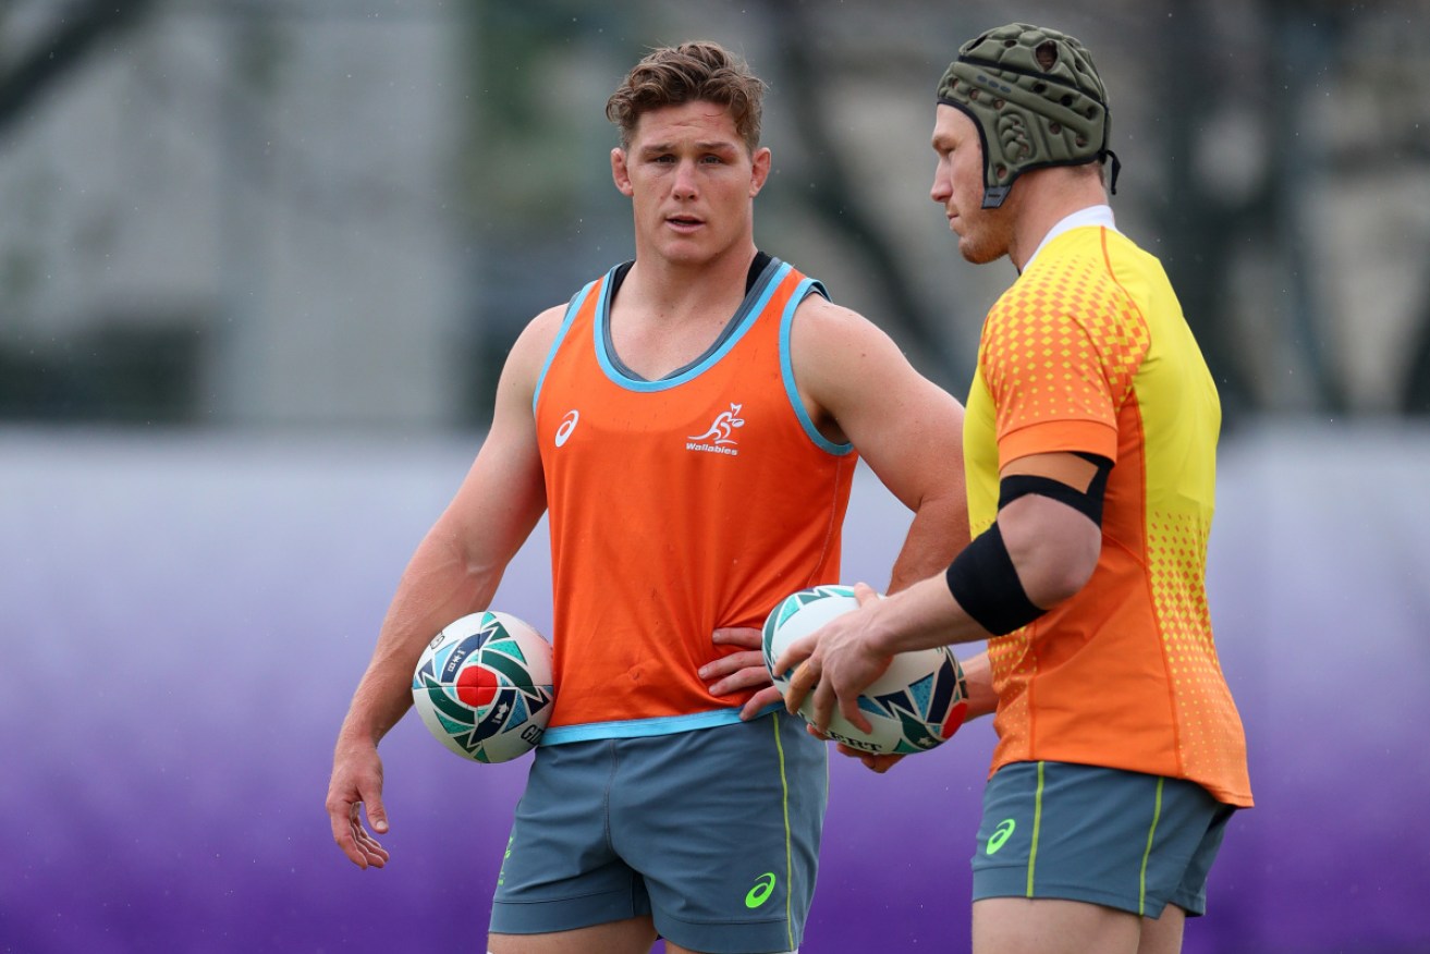
POLYGON ((1014 273, 928 202, 934 86, 1012 19, 1091 47, 1230 428, 1430 412, 1421 0, 13 0, 0 422, 483 426, 521 326, 632 255, 603 104, 684 39, 771 84, 759 245, 962 395, 1014 273))

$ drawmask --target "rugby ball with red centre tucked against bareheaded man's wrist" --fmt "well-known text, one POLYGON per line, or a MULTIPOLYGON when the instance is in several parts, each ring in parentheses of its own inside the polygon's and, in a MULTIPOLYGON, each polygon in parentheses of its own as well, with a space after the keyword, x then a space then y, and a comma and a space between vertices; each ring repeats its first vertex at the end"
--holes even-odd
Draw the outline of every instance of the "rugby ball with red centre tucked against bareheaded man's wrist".
POLYGON ((412 674, 422 722, 476 762, 505 762, 535 748, 552 698, 551 644, 503 612, 476 612, 445 626, 412 674))

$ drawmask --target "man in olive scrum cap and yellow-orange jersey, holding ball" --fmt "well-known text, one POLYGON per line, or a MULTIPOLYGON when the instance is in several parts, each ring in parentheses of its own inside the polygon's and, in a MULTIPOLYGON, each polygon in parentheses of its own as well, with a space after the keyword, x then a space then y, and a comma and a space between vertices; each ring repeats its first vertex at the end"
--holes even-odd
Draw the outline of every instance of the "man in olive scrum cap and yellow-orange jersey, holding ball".
POLYGON ((775 667, 801 664, 791 711, 814 692, 819 725, 835 705, 859 721, 892 654, 988 639, 967 662, 970 715, 998 735, 974 951, 1180 951, 1251 805, 1205 595, 1217 390, 1161 265, 1117 230, 1107 92, 1078 40, 1014 23, 965 43, 932 146, 960 253, 1018 269, 967 400, 974 541, 888 599, 859 588, 775 667))

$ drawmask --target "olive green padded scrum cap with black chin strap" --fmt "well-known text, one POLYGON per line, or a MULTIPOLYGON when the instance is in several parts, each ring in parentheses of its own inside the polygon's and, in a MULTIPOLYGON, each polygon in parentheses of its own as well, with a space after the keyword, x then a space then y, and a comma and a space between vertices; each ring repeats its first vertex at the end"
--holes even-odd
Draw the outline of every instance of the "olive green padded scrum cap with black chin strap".
POLYGON ((1065 33, 1010 23, 958 47, 938 102, 968 114, 984 149, 984 209, 997 209, 1030 169, 1113 159, 1107 90, 1093 54, 1065 33))

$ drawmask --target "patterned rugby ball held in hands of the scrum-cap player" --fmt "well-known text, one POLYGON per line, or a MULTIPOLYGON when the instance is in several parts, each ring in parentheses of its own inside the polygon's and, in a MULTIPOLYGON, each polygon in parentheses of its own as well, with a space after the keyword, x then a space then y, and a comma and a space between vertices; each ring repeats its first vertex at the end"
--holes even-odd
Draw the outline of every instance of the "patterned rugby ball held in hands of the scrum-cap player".
MULTIPOLYGON (((775 606, 765 619, 761 646, 765 668, 782 695, 789 692, 791 672, 775 672, 775 659, 795 639, 858 608, 854 588, 837 585, 801 589, 775 606)), ((948 646, 901 652, 859 697, 859 711, 874 731, 862 731, 835 708, 827 735, 864 752, 927 752, 962 725, 967 695, 962 667, 948 646)), ((814 721, 812 691, 799 705, 799 715, 814 721)))

